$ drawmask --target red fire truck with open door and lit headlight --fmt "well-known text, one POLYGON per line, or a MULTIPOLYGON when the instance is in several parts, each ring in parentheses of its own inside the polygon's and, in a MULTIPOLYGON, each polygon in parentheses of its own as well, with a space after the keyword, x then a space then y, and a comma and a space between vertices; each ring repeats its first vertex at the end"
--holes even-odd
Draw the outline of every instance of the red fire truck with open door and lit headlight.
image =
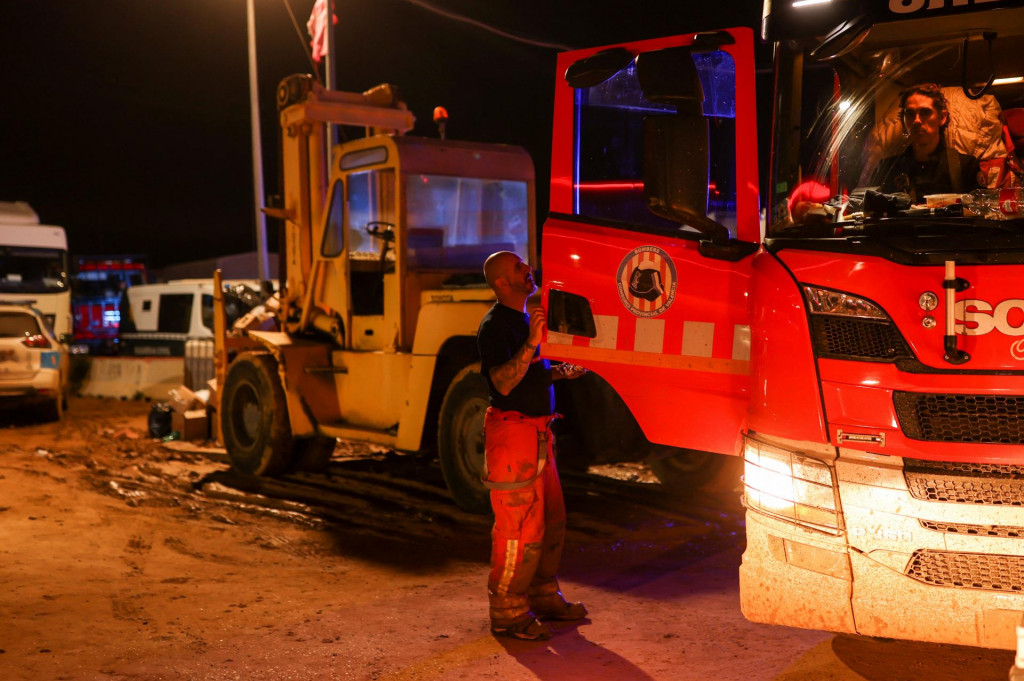
POLYGON ((762 31, 763 213, 752 31, 560 56, 544 352, 652 442, 744 458, 750 620, 1013 647, 1024 2, 773 0, 762 31))

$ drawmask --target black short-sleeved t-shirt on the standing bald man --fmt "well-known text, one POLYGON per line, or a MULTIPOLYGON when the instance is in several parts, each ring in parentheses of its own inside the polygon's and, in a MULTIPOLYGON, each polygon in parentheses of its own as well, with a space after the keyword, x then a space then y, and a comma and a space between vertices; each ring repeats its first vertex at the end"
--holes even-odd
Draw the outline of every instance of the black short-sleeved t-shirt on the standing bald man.
POLYGON ((555 412, 555 391, 551 387, 551 364, 540 356, 540 348, 518 385, 507 395, 498 392, 490 382, 490 370, 512 358, 529 338, 529 314, 501 303, 480 320, 476 344, 480 350, 480 373, 487 380, 490 406, 503 412, 526 416, 548 416, 555 412))

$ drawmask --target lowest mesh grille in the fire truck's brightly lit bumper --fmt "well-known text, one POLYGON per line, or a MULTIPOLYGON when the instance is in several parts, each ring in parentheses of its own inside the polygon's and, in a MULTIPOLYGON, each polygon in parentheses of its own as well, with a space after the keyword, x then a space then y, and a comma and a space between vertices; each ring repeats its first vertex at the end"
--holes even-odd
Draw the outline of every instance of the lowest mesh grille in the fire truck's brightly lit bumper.
POLYGON ((909 578, 936 587, 1024 591, 1024 556, 914 551, 906 566, 909 578))

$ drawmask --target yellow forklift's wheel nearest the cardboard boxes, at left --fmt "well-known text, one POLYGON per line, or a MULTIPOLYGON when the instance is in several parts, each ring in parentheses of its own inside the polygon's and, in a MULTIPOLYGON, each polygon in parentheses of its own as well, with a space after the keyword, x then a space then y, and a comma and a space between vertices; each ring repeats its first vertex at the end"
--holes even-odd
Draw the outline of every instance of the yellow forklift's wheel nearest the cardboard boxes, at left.
POLYGON ((278 363, 245 353, 227 370, 220 399, 220 428, 231 467, 250 475, 279 475, 288 468, 294 440, 278 363))

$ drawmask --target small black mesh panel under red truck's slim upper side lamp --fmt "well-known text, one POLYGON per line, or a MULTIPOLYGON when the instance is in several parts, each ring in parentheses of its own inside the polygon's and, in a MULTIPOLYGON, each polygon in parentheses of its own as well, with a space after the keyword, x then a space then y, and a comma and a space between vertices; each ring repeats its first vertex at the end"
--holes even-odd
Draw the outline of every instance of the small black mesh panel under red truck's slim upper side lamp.
POLYGON ((814 315, 811 338, 821 357, 893 361, 911 356, 903 337, 889 322, 814 315))

